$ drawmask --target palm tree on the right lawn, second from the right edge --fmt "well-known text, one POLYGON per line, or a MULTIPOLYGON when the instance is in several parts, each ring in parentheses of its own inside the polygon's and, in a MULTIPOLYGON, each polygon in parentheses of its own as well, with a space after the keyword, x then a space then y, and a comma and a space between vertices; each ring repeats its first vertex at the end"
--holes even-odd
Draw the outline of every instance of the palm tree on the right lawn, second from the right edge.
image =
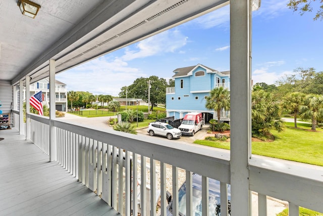
POLYGON ((297 114, 300 106, 303 105, 306 95, 300 92, 290 93, 285 97, 284 107, 294 115, 294 126, 297 128, 297 114))

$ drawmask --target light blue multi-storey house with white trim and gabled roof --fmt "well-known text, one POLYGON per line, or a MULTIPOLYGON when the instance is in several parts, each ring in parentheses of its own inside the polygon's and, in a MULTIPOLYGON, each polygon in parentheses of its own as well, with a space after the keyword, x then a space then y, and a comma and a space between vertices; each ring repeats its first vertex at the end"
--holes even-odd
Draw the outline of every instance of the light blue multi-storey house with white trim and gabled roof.
MULTIPOLYGON (((177 68, 175 87, 166 89, 167 116, 180 119, 188 112, 202 112, 206 121, 217 118, 214 110, 205 108, 206 97, 214 88, 224 87, 230 91, 230 71, 219 72, 198 64, 177 68)), ((230 111, 221 112, 222 121, 230 121, 230 111)))

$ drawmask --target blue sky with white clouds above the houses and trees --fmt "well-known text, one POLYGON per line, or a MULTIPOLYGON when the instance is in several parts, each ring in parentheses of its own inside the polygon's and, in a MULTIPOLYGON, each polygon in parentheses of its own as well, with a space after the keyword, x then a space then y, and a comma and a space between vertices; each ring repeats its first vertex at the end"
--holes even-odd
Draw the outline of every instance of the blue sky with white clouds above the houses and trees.
MULTIPOLYGON (((287 3, 262 0, 253 12, 253 83, 275 84, 298 67, 323 71, 323 21, 313 21, 313 12, 300 16, 287 3)), ((136 78, 170 79, 176 68, 197 64, 230 70, 229 6, 62 72, 56 79, 66 83, 68 91, 118 96, 136 78)))

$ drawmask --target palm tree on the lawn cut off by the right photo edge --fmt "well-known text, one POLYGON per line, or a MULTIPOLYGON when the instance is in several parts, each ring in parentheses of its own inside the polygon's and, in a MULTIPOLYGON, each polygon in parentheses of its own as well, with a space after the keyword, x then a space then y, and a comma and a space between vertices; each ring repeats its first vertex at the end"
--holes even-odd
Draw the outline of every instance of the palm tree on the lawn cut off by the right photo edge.
POLYGON ((312 130, 316 131, 317 119, 323 118, 323 95, 310 95, 300 107, 303 118, 312 119, 312 130))

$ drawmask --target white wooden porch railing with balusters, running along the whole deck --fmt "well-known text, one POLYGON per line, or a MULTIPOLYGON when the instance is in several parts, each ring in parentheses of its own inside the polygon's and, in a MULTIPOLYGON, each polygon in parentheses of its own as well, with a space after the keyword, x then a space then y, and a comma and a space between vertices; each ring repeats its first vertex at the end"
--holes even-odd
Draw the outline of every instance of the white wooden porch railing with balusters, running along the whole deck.
MULTIPOLYGON (((31 127, 34 142, 40 148, 48 146, 49 119, 29 115, 35 126, 31 127), (43 144, 41 144, 43 143, 43 144)), ((146 170, 149 161, 150 197, 156 199, 156 163, 160 164, 161 215, 166 215, 166 164, 173 167, 173 214, 178 215, 178 169, 186 170, 186 188, 191 188, 191 173, 202 176, 202 215, 211 214, 208 208, 207 178, 221 182, 221 215, 228 215, 227 184, 230 184, 230 154, 216 148, 199 148, 169 140, 132 135, 117 131, 107 133, 83 126, 52 120, 57 127, 57 161, 89 189, 123 215, 137 215, 137 169, 146 170), (123 160, 120 160, 123 155, 123 160), (135 181, 132 181, 135 180, 135 181), (132 191, 132 192, 131 192, 132 191), (122 200, 122 201, 121 201, 122 200), (131 203, 132 200, 132 203, 131 203)), ((32 136, 31 136, 32 137, 32 136)), ((310 165, 288 164, 261 157, 249 162, 249 189, 258 193, 258 215, 267 215, 266 196, 289 202, 289 215, 298 216, 298 206, 323 212, 323 171, 310 165)), ((141 185, 147 185, 146 172, 140 172, 141 185)), ((239 188, 239 186, 235 186, 239 188)), ((141 188, 141 215, 156 215, 155 202, 150 202, 152 212, 147 212, 147 194, 141 188)), ((231 187, 231 194, 236 193, 231 187)), ((187 215, 192 215, 192 197, 186 199, 187 215)))

